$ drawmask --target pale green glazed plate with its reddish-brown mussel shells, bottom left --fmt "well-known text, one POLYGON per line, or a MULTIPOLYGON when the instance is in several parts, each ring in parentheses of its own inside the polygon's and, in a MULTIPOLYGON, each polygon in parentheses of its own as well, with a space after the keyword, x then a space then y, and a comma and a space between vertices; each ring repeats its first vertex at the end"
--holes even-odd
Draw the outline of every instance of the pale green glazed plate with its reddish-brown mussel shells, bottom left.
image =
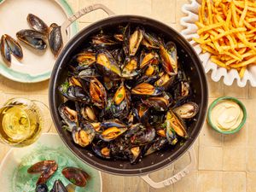
POLYGON ((0 166, 2 192, 101 192, 101 173, 85 165, 57 134, 12 148, 0 166))

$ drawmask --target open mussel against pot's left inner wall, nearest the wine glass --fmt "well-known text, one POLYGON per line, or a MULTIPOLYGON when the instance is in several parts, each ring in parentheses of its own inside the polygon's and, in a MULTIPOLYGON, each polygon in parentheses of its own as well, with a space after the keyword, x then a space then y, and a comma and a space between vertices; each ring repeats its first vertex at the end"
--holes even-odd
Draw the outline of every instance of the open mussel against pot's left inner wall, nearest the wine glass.
POLYGON ((64 124, 63 127, 67 128, 67 131, 72 131, 73 127, 78 125, 78 113, 71 105, 71 102, 62 103, 59 108, 59 114, 61 115, 61 119, 64 124))

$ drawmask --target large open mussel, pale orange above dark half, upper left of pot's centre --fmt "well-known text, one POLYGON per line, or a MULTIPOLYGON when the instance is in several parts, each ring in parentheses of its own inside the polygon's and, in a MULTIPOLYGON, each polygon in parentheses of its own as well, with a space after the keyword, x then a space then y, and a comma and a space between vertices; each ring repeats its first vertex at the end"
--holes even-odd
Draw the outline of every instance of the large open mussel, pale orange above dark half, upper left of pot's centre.
POLYGON ((102 75, 109 79, 118 80, 121 76, 121 70, 113 56, 106 49, 101 49, 96 54, 96 68, 102 75))

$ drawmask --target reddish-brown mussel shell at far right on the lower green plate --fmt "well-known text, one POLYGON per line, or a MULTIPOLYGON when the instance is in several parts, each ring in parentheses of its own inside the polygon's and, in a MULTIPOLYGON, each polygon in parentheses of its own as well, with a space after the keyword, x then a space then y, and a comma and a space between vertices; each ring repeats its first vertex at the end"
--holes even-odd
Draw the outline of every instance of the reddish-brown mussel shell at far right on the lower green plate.
POLYGON ((90 178, 87 172, 76 167, 66 167, 61 173, 71 183, 79 187, 85 187, 88 179, 90 178))

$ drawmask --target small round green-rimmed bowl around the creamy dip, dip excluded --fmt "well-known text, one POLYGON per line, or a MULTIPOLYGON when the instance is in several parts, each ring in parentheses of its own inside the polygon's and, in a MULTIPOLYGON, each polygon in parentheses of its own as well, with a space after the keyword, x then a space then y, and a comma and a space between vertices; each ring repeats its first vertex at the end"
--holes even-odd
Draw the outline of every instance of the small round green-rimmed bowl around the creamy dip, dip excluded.
POLYGON ((238 99, 236 99, 235 97, 232 97, 232 96, 221 96, 221 97, 218 97, 218 99, 214 100, 211 103, 210 107, 208 108, 207 122, 212 127, 213 130, 218 131, 219 133, 223 133, 223 134, 233 134, 233 133, 236 133, 237 131, 241 130, 241 127, 245 124, 246 120, 247 120, 247 109, 242 104, 242 102, 240 102, 238 99), (234 129, 232 131, 221 131, 221 130, 218 129, 218 127, 216 127, 215 125, 212 124, 212 119, 211 119, 212 108, 214 108, 218 104, 218 102, 222 102, 224 100, 230 100, 232 102, 236 102, 240 106, 240 108, 242 110, 242 113, 243 113, 243 117, 241 119, 240 125, 238 125, 236 127, 236 129, 234 129))

